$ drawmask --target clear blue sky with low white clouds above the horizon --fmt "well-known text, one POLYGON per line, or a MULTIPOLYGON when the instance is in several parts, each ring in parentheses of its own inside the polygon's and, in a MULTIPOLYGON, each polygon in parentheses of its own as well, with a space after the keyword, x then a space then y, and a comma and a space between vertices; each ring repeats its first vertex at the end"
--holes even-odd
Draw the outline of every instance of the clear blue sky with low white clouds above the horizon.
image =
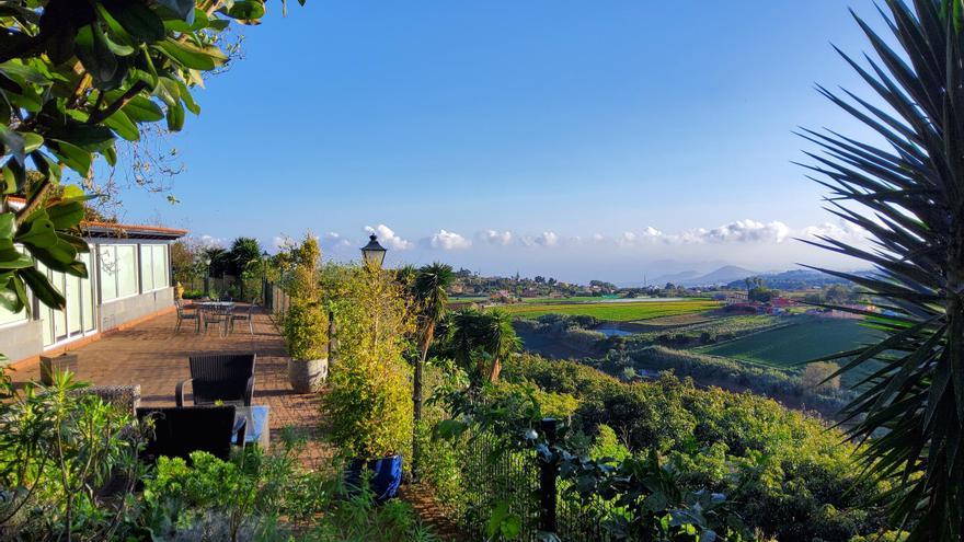
POLYGON ((289 3, 168 141, 181 203, 129 189, 125 220, 333 257, 381 224, 394 262, 569 280, 847 264, 792 241, 839 224, 791 131, 867 136, 814 90, 867 95, 848 3, 289 3))

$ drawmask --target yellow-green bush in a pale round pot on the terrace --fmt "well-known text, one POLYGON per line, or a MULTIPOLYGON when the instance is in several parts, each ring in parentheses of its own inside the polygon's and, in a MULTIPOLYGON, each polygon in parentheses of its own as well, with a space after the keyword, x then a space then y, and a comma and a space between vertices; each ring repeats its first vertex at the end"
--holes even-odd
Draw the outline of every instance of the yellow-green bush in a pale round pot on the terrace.
POLYGON ((328 378, 328 318, 317 303, 298 302, 288 309, 284 325, 291 389, 317 392, 328 378))

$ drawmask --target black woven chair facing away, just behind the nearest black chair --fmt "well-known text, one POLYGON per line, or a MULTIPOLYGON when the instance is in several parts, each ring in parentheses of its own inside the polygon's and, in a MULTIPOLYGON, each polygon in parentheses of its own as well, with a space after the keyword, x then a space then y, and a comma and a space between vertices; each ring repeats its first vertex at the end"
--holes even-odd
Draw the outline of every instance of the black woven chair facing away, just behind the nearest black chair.
POLYGON ((191 356, 191 378, 177 383, 174 399, 184 406, 184 384, 194 390, 194 404, 215 402, 251 406, 254 395, 254 361, 256 354, 220 354, 191 356))

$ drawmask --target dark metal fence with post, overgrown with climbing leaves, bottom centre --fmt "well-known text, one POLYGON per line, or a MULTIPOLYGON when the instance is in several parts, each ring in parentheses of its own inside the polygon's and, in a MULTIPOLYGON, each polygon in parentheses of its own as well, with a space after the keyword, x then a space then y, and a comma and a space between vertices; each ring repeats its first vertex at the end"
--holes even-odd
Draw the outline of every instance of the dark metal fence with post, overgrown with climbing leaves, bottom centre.
MULTIPOLYGON (((541 431, 553 441, 555 420, 542 420, 541 431)), ((520 520, 518 540, 547 540, 548 533, 566 542, 617 540, 607 526, 626 510, 599 496, 569 491, 575 482, 562 477, 558 465, 506 437, 486 433, 470 438, 461 471, 467 500, 463 528, 479 540, 487 538, 486 524, 501 504, 520 520)))

